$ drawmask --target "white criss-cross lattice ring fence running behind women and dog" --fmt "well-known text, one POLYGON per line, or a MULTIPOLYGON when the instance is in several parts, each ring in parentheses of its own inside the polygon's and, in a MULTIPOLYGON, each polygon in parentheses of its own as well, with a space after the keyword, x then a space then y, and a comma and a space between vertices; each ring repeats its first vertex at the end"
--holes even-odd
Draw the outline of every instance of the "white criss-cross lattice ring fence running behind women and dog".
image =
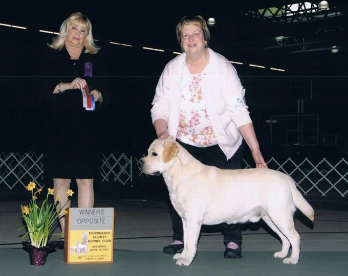
MULTIPOLYGON (((122 153, 103 154, 100 170, 101 182, 115 182, 121 186, 133 185, 133 176, 144 177, 138 168, 140 157, 126 156, 122 153), (135 167, 133 164, 135 163, 135 167)), ((43 154, 35 153, 0 153, 0 189, 13 190, 15 186, 26 187, 29 181, 35 181, 40 188, 44 184, 43 154)), ((290 175, 297 183, 297 188, 304 195, 339 196, 348 195, 348 162, 323 158, 313 162, 309 158, 293 160, 287 158, 280 162, 271 157, 269 168, 290 175)), ((251 168, 245 159, 243 167, 251 168)))

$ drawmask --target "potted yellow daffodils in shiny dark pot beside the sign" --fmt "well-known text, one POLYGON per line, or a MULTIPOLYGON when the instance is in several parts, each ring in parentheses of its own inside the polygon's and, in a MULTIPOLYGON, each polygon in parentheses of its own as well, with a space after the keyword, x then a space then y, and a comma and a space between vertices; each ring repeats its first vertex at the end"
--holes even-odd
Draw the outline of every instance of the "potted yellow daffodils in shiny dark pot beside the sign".
MULTIPOLYGON (((54 250, 52 246, 48 245, 48 240, 53 235, 51 233, 52 226, 67 211, 61 211, 58 196, 53 202, 49 202, 49 195, 53 196, 53 189, 48 188, 46 199, 39 206, 36 200, 38 199, 38 195, 41 194, 42 189, 37 189, 35 182, 29 182, 26 188, 31 192, 31 199, 28 205, 20 205, 22 217, 25 222, 25 225, 20 229, 27 228, 27 233, 23 238, 29 236, 30 242, 24 242, 23 245, 29 251, 31 264, 42 265, 46 262, 48 252, 54 250), (36 191, 34 192, 35 189, 36 191)), ((67 198, 73 194, 74 192, 72 190, 68 190, 67 198)))

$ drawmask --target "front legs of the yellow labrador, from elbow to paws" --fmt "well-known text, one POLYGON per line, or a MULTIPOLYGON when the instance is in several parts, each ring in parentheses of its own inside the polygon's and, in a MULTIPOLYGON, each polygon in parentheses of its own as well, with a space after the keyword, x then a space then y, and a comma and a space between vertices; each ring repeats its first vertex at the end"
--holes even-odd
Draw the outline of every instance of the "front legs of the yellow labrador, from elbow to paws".
POLYGON ((174 255, 177 265, 190 265, 196 252, 201 231, 201 222, 197 219, 183 219, 184 250, 181 254, 174 255))

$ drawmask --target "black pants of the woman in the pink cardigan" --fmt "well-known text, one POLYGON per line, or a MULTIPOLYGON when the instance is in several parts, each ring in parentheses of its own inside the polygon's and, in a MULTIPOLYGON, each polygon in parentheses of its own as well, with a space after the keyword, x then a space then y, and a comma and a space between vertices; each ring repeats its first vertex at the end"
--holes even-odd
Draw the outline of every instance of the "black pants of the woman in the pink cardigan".
MULTIPOLYGON (((199 148, 184 144, 177 140, 193 157, 200 160, 205 165, 215 166, 220 169, 241 169, 242 168, 242 156, 243 146, 238 148, 236 153, 226 160, 226 155, 220 149, 218 145, 199 148)), ((231 202, 233 204, 233 202, 231 202)), ((171 223, 173 227, 173 241, 178 240, 184 241, 183 224, 177 211, 170 204, 171 223)), ((235 242, 239 246, 242 245, 242 233, 240 224, 221 224, 222 233, 224 235, 224 244, 227 245, 229 242, 235 242)))

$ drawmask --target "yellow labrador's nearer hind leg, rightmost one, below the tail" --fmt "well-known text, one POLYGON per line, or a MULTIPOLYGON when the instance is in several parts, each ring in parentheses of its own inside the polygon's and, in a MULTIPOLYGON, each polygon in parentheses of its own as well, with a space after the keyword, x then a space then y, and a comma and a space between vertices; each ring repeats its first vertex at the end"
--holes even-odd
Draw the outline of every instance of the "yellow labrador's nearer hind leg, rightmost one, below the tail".
POLYGON ((277 211, 275 216, 272 216, 272 214, 269 214, 269 216, 271 217, 275 226, 285 237, 287 237, 291 244, 291 255, 289 258, 285 258, 283 263, 297 264, 300 256, 300 235, 295 229, 292 212, 277 211))

